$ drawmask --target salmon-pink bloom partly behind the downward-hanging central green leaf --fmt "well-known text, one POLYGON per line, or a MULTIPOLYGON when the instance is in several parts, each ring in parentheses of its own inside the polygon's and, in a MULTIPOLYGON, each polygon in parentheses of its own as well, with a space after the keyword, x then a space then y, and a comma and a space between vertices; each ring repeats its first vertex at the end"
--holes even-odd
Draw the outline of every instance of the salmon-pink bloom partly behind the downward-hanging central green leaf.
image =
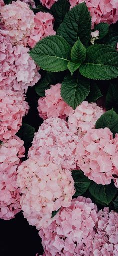
POLYGON ((59 117, 66 120, 72 108, 66 104, 60 95, 61 84, 51 85, 45 90, 45 97, 38 100, 38 111, 43 120, 50 117, 59 117))

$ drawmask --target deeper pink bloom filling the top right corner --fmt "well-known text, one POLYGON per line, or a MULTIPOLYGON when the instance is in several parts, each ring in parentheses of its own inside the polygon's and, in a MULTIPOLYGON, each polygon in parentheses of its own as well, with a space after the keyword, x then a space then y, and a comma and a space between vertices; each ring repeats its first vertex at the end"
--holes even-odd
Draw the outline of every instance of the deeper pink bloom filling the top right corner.
POLYGON ((92 17, 92 28, 95 24, 116 23, 118 20, 118 2, 116 0, 69 0, 71 8, 85 2, 92 17))

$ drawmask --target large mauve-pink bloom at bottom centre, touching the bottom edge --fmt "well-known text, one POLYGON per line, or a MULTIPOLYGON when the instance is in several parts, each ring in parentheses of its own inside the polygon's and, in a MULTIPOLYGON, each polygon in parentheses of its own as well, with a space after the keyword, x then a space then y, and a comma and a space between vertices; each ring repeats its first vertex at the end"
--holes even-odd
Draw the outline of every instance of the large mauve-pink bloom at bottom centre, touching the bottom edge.
POLYGON ((55 255, 90 255, 89 251, 94 227, 97 221, 97 206, 90 198, 78 196, 70 207, 61 207, 54 221, 39 231, 42 245, 47 256, 55 255))

